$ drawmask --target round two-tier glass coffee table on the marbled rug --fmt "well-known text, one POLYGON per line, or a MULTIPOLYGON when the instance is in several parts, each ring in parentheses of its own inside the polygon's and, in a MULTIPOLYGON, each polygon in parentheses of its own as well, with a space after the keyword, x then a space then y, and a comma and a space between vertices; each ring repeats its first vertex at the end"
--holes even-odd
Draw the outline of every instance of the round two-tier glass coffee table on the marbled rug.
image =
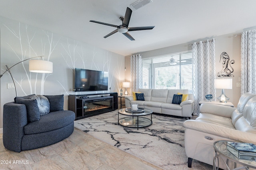
POLYGON ((142 128, 152 125, 152 110, 139 108, 138 111, 132 111, 130 107, 118 110, 118 124, 124 127, 142 128), (127 117, 119 118, 119 114, 127 117), (145 117, 150 115, 150 119, 145 117))

